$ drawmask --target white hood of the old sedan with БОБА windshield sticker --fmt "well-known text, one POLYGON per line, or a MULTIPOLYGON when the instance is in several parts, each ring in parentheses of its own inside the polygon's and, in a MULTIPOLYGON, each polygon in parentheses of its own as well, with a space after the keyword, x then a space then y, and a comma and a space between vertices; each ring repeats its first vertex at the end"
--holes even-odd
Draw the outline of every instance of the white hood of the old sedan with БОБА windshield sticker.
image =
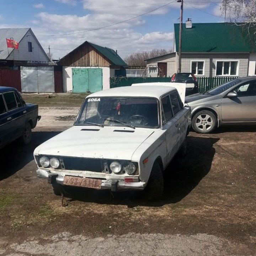
POLYGON ((34 155, 131 160, 152 133, 147 128, 73 126, 39 145, 34 155))

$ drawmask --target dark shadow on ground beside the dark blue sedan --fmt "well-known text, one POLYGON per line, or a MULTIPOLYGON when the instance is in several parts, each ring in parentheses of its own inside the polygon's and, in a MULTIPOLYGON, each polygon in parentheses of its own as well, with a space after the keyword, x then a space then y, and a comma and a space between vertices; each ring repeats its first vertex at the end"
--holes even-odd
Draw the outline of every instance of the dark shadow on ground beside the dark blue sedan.
POLYGON ((12 142, 0 150, 0 181, 15 174, 34 159, 34 149, 60 132, 33 132, 29 145, 12 142))

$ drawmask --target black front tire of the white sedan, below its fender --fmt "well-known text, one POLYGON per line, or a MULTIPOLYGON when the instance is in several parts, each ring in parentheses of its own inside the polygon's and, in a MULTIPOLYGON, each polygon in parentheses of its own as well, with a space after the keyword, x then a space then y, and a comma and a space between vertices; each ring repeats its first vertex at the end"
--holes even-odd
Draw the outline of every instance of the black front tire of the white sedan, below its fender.
POLYGON ((154 162, 148 184, 145 187, 146 198, 149 201, 158 201, 164 191, 164 180, 162 170, 158 162, 154 162))

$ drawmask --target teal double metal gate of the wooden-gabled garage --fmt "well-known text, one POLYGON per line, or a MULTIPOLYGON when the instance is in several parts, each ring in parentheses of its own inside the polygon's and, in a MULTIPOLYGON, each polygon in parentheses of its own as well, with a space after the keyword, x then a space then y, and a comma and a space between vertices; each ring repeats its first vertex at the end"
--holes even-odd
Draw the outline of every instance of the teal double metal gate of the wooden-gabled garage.
POLYGON ((73 68, 73 92, 97 92, 102 90, 101 68, 73 68))

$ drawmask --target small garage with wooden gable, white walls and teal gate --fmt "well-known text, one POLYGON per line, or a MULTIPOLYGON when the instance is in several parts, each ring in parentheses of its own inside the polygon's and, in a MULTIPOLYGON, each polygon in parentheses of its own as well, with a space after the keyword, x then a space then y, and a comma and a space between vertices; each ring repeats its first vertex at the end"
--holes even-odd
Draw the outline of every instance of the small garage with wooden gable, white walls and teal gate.
POLYGON ((85 41, 58 60, 63 91, 96 92, 110 88, 110 77, 126 74, 127 64, 116 50, 85 41))

